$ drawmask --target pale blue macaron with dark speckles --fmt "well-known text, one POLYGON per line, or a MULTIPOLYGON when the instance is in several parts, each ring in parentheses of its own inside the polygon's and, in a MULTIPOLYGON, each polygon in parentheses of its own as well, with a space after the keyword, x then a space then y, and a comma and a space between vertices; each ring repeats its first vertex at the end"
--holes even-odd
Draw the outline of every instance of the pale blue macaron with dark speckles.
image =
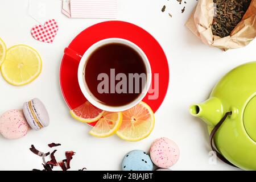
POLYGON ((125 155, 122 162, 123 171, 152 171, 150 156, 142 150, 133 150, 125 155))

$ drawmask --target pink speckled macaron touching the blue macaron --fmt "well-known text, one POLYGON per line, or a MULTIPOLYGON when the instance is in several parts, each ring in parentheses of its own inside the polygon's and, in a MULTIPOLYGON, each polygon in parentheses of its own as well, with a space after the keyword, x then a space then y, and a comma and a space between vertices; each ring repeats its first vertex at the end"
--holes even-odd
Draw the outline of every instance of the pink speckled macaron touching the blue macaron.
POLYGON ((160 168, 174 166, 180 156, 177 144, 168 138, 159 138, 150 147, 150 158, 160 168))

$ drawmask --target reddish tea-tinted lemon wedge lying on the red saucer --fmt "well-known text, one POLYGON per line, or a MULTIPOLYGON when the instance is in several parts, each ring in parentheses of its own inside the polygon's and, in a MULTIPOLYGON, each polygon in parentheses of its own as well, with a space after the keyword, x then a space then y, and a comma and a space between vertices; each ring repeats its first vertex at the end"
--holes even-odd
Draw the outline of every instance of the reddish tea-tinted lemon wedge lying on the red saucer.
POLYGON ((103 113, 103 110, 98 109, 88 101, 70 111, 73 118, 83 123, 98 121, 98 119, 102 117, 103 113))

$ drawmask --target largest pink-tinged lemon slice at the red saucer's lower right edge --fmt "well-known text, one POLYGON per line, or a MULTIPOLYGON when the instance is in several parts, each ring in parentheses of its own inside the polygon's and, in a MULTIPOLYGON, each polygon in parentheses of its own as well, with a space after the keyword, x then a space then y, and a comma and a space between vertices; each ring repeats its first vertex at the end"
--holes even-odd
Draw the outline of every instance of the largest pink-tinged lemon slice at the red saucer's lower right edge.
POLYGON ((127 141, 139 141, 150 135, 155 125, 154 112, 145 102, 123 111, 122 125, 118 137, 127 141))

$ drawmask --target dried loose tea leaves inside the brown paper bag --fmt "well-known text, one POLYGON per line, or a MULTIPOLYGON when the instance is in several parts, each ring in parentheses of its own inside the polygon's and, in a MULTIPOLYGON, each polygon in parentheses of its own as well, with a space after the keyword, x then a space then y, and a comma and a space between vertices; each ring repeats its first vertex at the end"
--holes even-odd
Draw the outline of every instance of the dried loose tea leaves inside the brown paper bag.
POLYGON ((213 0, 214 12, 213 35, 224 38, 229 36, 246 13, 251 0, 213 0))

